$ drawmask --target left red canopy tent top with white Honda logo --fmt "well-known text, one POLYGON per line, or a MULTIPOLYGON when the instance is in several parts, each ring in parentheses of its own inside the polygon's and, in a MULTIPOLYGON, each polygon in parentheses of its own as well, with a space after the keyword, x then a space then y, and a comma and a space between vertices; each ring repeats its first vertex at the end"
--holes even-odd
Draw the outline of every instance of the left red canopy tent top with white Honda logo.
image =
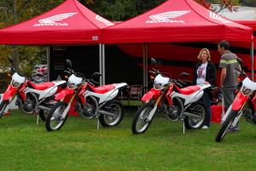
POLYGON ((0 30, 0 44, 101 43, 102 28, 113 25, 78 1, 67 0, 38 17, 0 30))

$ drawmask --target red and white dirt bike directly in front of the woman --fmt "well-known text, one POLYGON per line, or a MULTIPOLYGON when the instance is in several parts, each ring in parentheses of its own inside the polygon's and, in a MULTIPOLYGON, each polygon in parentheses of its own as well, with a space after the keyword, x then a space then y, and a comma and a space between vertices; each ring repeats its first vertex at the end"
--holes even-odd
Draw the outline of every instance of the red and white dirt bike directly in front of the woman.
MULTIPOLYGON (((156 61, 151 59, 156 65, 156 61)), ((205 117, 206 108, 199 100, 205 88, 210 84, 202 84, 179 88, 176 79, 164 76, 160 71, 149 71, 154 74, 154 88, 143 95, 144 104, 137 111, 131 124, 133 134, 142 134, 149 128, 154 114, 161 105, 165 106, 166 117, 172 121, 183 120, 186 128, 201 128, 205 117), (156 76, 156 77, 155 77, 156 76)))

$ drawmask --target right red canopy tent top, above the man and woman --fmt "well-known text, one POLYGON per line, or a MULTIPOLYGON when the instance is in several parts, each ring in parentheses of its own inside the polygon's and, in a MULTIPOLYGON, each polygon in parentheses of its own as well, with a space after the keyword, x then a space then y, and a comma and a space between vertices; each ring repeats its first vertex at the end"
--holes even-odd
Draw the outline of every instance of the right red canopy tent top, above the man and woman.
POLYGON ((168 0, 103 30, 104 43, 251 42, 252 28, 205 9, 194 0, 168 0))

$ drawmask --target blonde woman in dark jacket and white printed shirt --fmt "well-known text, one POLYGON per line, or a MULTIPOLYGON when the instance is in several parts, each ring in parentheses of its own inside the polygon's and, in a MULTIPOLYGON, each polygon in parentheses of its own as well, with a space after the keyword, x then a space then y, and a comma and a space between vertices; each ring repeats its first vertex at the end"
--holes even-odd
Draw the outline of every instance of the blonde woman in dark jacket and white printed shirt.
MULTIPOLYGON (((211 54, 207 48, 202 48, 197 56, 199 62, 195 65, 193 84, 210 83, 214 86, 216 82, 216 67, 211 62, 211 54)), ((206 89, 202 97, 202 103, 206 105, 207 117, 202 128, 210 127, 212 110, 211 110, 211 90, 206 89)))

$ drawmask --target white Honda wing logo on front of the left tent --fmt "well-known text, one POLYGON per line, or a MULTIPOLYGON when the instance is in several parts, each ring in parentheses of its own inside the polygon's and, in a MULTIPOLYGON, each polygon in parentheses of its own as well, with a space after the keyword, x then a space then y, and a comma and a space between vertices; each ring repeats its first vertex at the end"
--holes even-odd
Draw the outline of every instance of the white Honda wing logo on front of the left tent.
POLYGON ((57 21, 65 20, 69 17, 72 17, 74 14, 77 13, 56 14, 54 16, 38 20, 39 23, 35 24, 34 26, 68 26, 67 23, 61 23, 57 21))

